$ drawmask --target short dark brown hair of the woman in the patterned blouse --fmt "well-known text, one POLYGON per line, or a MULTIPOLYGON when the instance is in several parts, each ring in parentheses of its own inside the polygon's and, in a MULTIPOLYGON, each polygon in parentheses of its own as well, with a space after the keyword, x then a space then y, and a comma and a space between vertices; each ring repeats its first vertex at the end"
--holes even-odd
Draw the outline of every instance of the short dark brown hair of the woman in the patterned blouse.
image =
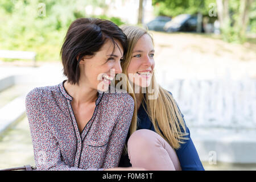
POLYGON ((71 23, 60 51, 63 73, 71 84, 79 83, 79 62, 82 57, 93 56, 107 39, 112 40, 114 47, 114 39, 118 40, 125 55, 127 51, 126 35, 113 22, 97 18, 79 18, 71 23))

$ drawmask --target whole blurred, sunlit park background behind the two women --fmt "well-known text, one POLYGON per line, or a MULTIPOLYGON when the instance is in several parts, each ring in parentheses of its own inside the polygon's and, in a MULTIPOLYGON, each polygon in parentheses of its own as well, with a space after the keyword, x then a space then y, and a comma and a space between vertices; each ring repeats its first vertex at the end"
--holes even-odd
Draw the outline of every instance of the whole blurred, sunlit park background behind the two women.
POLYGON ((206 170, 256 169, 256 1, 1 0, 0 169, 34 163, 24 98, 65 79, 69 24, 147 27, 160 85, 174 95, 206 170))

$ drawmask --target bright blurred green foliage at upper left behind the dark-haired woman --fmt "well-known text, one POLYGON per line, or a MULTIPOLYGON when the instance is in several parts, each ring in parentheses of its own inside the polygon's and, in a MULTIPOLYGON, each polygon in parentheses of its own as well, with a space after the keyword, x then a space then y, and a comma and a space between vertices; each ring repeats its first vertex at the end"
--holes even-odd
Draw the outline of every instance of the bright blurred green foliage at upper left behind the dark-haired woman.
MULTIPOLYGON (((60 60, 59 52, 71 22, 85 17, 85 6, 104 0, 1 0, 0 49, 35 51, 39 61, 60 60), (44 10, 40 5, 44 3, 44 10)), ((95 16, 96 17, 96 16, 95 16)), ((97 16, 120 25, 115 17, 97 16)))

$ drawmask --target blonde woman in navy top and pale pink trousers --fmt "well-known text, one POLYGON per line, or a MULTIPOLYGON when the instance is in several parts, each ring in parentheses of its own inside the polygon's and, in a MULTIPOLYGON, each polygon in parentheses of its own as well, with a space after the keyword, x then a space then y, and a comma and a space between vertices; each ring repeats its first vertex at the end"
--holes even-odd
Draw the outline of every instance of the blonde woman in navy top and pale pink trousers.
MULTIPOLYGON (((172 94, 159 86, 154 75, 154 43, 146 30, 122 26, 128 50, 122 71, 127 75, 129 93, 135 98, 134 115, 127 150, 120 167, 148 170, 204 170, 196 148, 172 94)), ((125 151, 125 150, 124 150, 125 151)))

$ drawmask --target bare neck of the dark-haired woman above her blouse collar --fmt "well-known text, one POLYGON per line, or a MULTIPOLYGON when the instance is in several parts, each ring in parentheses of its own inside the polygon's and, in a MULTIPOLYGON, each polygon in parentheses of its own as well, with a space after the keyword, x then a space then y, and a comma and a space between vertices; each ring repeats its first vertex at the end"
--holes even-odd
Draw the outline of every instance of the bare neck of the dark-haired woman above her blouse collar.
POLYGON ((70 84, 68 81, 64 82, 64 87, 68 94, 73 97, 73 104, 90 104, 97 100, 97 90, 90 88, 83 82, 77 84, 70 84))

